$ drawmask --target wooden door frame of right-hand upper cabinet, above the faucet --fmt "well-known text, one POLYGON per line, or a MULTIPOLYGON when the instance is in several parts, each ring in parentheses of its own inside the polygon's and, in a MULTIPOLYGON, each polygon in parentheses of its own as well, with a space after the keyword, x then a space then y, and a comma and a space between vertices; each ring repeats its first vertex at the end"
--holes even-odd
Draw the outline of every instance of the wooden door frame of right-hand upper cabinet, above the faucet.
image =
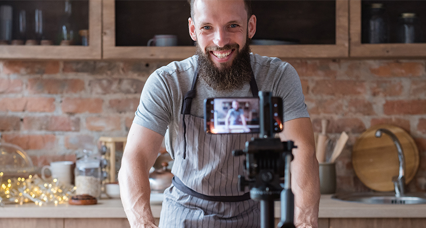
POLYGON ((425 57, 426 44, 362 44, 361 0, 349 1, 350 57, 425 57))

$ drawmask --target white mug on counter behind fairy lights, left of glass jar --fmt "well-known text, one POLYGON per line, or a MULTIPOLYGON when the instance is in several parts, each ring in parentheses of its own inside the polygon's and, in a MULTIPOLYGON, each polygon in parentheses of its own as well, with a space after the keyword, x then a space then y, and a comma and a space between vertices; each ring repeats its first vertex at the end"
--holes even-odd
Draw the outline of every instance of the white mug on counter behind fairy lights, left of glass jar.
POLYGON ((42 178, 47 179, 45 175, 46 169, 50 170, 52 178, 57 179, 61 183, 73 184, 74 180, 74 162, 60 161, 51 162, 50 166, 43 166, 42 178))

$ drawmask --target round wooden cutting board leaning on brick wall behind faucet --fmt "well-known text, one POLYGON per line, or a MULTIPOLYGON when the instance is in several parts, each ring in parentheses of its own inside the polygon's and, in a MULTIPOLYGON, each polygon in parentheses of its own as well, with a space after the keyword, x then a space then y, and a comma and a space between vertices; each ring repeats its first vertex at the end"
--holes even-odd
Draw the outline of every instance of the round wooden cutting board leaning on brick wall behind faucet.
POLYGON ((374 136, 379 128, 387 129, 398 137, 405 159, 405 183, 414 178, 419 166, 417 146, 407 132, 393 125, 373 126, 361 134, 353 145, 352 165, 367 187, 380 192, 394 191, 392 177, 399 174, 398 151, 387 134, 383 133, 380 138, 374 136))

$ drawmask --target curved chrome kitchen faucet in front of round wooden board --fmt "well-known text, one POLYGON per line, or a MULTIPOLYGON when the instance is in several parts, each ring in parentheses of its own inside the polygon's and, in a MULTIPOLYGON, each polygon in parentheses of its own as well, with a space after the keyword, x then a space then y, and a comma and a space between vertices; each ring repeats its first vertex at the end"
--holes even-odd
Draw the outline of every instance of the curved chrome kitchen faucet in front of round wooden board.
POLYGON ((404 195, 404 184, 405 184, 405 177, 404 177, 404 154, 402 151, 402 146, 400 141, 398 140, 397 136, 392 133, 392 131, 389 131, 387 129, 378 129, 376 131, 375 136, 377 138, 380 138, 381 135, 383 133, 386 133, 387 135, 390 136, 390 138, 392 138, 392 141, 394 141, 395 146, 397 147, 398 150, 398 160, 399 160, 399 175, 398 176, 394 176, 392 178, 392 182, 394 182, 395 185, 395 196, 396 197, 400 197, 404 195))

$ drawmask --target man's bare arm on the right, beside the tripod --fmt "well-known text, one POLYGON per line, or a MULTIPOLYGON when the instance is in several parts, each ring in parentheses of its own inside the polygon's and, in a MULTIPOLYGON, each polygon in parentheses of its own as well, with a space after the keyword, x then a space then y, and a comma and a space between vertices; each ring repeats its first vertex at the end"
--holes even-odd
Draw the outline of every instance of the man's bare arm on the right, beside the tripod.
POLYGON ((315 157, 315 143, 309 118, 287 121, 281 140, 292 140, 297 145, 293 150, 291 164, 292 190, 295 197, 295 225, 298 228, 318 227, 319 171, 315 157))

